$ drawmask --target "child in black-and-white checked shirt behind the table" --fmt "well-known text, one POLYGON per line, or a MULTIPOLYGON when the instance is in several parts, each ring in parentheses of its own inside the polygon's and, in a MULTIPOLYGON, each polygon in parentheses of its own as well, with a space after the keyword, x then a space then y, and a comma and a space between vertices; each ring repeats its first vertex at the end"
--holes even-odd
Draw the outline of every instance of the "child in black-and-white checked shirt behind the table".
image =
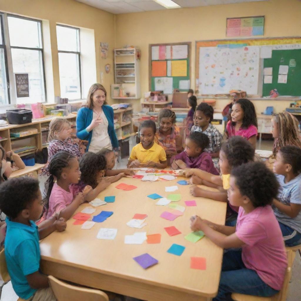
POLYGON ((222 145, 222 134, 211 124, 213 120, 213 107, 205 102, 197 106, 194 114, 194 126, 191 128, 191 133, 202 132, 209 138, 209 146, 204 150, 213 158, 213 163, 218 168, 219 150, 222 145))

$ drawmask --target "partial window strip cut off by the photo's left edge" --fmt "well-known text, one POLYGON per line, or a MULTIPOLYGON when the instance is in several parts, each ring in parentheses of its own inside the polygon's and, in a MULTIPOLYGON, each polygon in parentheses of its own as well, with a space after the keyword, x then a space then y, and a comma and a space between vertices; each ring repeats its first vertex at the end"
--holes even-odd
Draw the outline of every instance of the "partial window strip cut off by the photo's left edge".
POLYGON ((0 15, 0 106, 9 104, 9 95, 8 95, 9 83, 7 79, 8 79, 8 72, 7 72, 4 35, 3 35, 3 20, 2 20, 2 15, 0 15))

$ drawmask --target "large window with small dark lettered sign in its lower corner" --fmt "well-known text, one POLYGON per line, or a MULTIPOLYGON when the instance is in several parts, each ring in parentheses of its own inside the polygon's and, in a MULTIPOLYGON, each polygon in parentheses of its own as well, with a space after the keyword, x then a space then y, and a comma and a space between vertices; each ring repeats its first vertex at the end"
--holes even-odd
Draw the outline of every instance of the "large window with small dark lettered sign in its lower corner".
POLYGON ((45 102, 42 22, 7 15, 7 23, 16 103, 45 102))

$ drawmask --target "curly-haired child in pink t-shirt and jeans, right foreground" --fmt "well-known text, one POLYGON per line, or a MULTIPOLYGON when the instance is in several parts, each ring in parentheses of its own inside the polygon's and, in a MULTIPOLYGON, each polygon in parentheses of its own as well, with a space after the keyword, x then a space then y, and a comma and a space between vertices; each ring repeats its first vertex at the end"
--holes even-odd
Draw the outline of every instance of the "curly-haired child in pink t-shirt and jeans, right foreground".
POLYGON ((202 230, 223 249, 219 291, 214 301, 232 300, 229 294, 273 296, 281 290, 287 258, 281 231, 274 216, 273 198, 279 185, 263 163, 250 162, 231 170, 229 202, 239 206, 236 227, 191 217, 191 229, 202 230))

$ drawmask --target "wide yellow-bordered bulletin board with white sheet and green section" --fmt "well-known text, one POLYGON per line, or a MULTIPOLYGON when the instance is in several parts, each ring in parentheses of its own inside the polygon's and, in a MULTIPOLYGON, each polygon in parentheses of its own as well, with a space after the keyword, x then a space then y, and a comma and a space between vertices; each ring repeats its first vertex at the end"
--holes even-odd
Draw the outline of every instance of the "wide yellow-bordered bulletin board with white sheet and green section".
POLYGON ((196 90, 199 95, 241 89, 268 96, 276 88, 280 95, 299 96, 300 59, 300 37, 197 41, 196 90))

